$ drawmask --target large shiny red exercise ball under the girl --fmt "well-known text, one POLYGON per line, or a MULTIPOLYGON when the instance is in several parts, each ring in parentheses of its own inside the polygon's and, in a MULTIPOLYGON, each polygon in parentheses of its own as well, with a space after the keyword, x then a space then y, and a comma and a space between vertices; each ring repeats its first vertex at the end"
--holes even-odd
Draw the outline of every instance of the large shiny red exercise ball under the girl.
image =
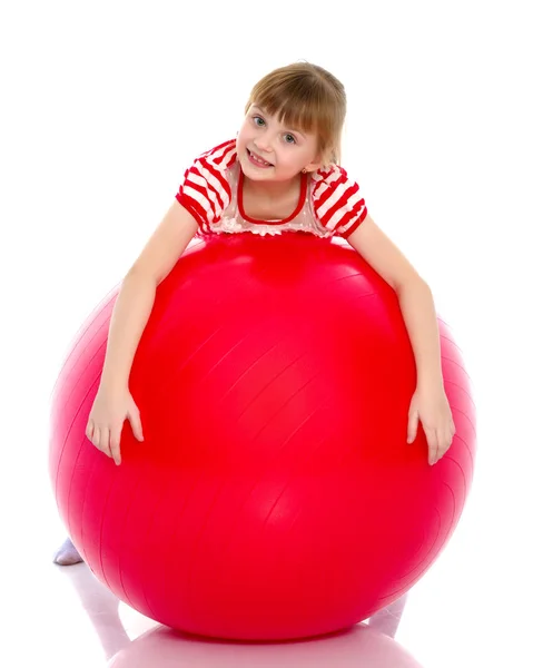
POLYGON ((475 410, 440 322, 456 434, 407 444, 414 355, 395 292, 346 244, 292 233, 189 248, 159 285, 122 464, 85 436, 116 293, 52 399, 60 517, 96 577, 165 625, 244 640, 349 627, 405 592, 460 520, 475 410))

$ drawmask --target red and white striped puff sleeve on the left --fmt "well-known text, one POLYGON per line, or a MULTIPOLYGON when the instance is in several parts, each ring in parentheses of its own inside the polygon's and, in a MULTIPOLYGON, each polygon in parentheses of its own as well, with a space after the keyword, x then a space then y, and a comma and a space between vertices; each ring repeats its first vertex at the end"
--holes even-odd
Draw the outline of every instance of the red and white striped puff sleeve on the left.
POLYGON ((229 204, 231 189, 227 169, 236 159, 236 140, 231 139, 201 154, 185 173, 176 199, 204 233, 209 232, 229 204))

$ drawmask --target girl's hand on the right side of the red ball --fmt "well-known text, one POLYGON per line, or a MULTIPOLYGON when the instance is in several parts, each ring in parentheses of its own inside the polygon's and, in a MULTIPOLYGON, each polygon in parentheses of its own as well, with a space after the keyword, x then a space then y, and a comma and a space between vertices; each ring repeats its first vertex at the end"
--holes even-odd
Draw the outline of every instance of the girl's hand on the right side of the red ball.
POLYGON ((430 464, 436 464, 452 445, 455 424, 442 385, 416 387, 411 400, 407 443, 412 443, 422 422, 427 439, 430 464))

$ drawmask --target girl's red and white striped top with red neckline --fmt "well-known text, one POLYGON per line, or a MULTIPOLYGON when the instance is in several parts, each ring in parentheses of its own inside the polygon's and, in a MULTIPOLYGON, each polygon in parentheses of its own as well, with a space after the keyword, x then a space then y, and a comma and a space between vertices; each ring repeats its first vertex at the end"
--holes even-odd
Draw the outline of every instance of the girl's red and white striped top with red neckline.
POLYGON ((200 235, 290 230, 347 238, 367 215, 359 186, 337 165, 302 175, 298 204, 283 220, 258 220, 246 215, 243 178, 236 139, 204 153, 186 170, 176 199, 194 216, 200 235))

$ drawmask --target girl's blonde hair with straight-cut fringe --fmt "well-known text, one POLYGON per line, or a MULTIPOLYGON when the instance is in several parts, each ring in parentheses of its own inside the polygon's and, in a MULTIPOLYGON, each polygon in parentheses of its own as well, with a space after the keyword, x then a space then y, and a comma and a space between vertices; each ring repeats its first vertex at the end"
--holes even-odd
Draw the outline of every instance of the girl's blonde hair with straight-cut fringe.
POLYGON ((316 134, 324 165, 339 163, 346 92, 324 68, 295 62, 275 69, 254 86, 245 114, 251 105, 278 116, 284 125, 316 134))

